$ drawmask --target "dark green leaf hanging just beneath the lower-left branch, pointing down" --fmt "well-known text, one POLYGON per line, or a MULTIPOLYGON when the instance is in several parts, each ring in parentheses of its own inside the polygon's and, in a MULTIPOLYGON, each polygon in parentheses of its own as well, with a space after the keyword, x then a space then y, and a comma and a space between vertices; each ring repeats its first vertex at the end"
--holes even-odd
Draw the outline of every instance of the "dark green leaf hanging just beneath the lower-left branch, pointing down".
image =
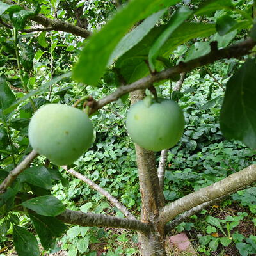
POLYGON ((52 248, 56 237, 62 236, 67 230, 67 226, 54 217, 38 214, 29 214, 29 217, 45 250, 52 248))

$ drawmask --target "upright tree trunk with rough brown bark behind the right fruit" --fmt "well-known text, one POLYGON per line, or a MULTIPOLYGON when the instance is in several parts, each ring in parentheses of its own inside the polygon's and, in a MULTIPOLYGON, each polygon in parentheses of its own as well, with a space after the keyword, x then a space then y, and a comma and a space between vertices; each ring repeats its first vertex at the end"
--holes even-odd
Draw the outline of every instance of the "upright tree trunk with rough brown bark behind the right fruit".
MULTIPOLYGON (((130 94, 132 104, 144 97, 145 90, 137 90, 130 94)), ((152 225, 150 234, 139 234, 141 255, 165 256, 164 228, 157 227, 159 210, 163 207, 163 193, 159 186, 155 154, 138 145, 135 145, 135 148, 142 202, 141 221, 152 225)))

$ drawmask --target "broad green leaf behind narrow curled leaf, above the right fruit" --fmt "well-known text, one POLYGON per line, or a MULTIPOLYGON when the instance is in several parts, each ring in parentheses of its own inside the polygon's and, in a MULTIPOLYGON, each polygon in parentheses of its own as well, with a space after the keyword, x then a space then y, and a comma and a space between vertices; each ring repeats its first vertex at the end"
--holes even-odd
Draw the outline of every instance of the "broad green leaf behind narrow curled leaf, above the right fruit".
MULTIPOLYGON (((116 67, 120 69, 120 73, 127 83, 132 83, 149 74, 145 60, 148 60, 150 48, 166 28, 167 26, 159 26, 152 29, 139 44, 132 47, 130 51, 116 61, 116 67)), ((188 42, 192 38, 209 36, 215 32, 214 24, 184 23, 166 40, 159 55, 168 58, 177 46, 188 42)), ((160 70, 163 67, 162 63, 157 63, 156 67, 160 70)))

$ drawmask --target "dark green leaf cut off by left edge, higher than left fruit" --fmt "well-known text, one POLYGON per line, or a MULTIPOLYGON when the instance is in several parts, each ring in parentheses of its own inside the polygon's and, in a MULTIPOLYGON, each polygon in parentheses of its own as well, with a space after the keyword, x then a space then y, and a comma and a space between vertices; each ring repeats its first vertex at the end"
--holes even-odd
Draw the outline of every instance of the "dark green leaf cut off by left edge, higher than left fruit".
POLYGON ((5 79, 0 77, 0 109, 8 108, 15 100, 15 95, 7 85, 5 79))

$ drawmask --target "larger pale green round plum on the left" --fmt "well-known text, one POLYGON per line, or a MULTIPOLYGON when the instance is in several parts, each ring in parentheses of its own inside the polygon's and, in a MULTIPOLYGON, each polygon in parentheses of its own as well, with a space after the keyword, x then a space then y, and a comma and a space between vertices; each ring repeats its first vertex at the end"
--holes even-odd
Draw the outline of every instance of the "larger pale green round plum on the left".
POLYGON ((92 122, 83 111, 62 104, 47 104, 30 120, 31 147, 54 164, 76 161, 93 140, 92 122))

